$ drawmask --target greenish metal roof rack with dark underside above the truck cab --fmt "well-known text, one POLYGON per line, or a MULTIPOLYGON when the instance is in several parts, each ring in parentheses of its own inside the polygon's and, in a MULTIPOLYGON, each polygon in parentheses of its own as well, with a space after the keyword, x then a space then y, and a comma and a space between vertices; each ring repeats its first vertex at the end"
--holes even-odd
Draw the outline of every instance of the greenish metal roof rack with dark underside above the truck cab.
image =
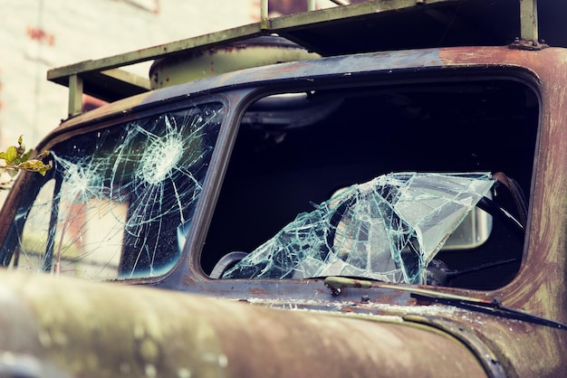
POLYGON ((268 0, 261 0, 259 23, 55 68, 47 72, 47 79, 69 87, 71 117, 82 112, 83 93, 114 101, 150 90, 149 79, 122 67, 273 33, 323 56, 509 44, 510 35, 518 37, 518 32, 516 43, 518 39, 539 43, 537 0, 520 0, 519 6, 518 0, 374 0, 351 5, 330 0, 339 6, 319 10, 314 10, 314 0, 306 1, 307 12, 269 18, 268 0), (506 3, 496 9, 498 15, 490 8, 495 3, 506 3), (495 30, 494 25, 502 31, 495 30))

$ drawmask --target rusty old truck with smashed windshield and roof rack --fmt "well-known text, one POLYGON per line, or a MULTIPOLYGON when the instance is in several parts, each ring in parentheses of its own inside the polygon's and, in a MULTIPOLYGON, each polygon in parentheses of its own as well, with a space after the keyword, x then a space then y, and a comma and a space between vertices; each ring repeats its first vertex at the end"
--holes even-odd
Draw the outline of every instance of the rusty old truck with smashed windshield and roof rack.
POLYGON ((266 5, 48 71, 0 375, 564 375, 567 6, 266 5))

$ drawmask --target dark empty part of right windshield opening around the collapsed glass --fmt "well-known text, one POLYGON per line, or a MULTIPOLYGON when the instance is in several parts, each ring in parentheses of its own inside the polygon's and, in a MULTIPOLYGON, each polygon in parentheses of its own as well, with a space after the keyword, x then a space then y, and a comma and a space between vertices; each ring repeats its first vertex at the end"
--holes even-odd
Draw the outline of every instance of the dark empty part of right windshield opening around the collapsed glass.
MULTIPOLYGON (((501 171, 529 198, 537 122, 537 97, 517 80, 313 89, 261 99, 243 118, 203 269, 211 272, 230 252, 258 250, 337 190, 381 175, 501 171), (270 101, 277 107, 269 109, 270 101)), ((485 195, 519 217, 504 187, 495 184, 485 195)), ((501 217, 478 207, 472 214, 457 230, 467 234, 450 238, 432 267, 453 274, 444 285, 501 287, 519 269, 524 237, 501 217)))

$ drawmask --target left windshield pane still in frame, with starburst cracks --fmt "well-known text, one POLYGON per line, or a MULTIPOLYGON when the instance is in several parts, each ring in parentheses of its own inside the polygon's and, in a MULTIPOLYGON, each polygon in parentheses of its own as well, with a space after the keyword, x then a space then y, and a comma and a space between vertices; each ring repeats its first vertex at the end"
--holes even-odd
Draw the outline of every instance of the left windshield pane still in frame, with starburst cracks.
POLYGON ((181 255, 178 230, 191 222, 223 115, 222 104, 210 103, 53 146, 53 169, 34 203, 18 210, 5 264, 86 279, 167 272, 181 255))

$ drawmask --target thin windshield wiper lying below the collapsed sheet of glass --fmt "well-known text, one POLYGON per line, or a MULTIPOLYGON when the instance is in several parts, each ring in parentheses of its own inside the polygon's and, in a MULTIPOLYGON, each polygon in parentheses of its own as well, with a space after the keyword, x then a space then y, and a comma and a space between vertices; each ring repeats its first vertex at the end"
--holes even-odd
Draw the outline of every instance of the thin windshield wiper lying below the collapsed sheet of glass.
POLYGON ((538 317, 536 315, 517 310, 512 307, 502 306, 502 302, 499 298, 493 298, 492 300, 470 298, 437 292, 434 290, 428 290, 426 288, 411 288, 370 281, 368 279, 350 279, 345 277, 327 277, 325 279, 325 286, 327 288, 331 288, 331 293, 333 296, 338 296, 339 294, 341 294, 341 289, 343 288, 391 288, 394 290, 408 291, 411 298, 416 298, 420 301, 466 308, 471 311, 479 311, 485 314, 494 315, 496 317, 506 317, 514 320, 522 320, 541 326, 551 326, 553 328, 567 329, 567 325, 561 322, 557 322, 546 317, 538 317))

